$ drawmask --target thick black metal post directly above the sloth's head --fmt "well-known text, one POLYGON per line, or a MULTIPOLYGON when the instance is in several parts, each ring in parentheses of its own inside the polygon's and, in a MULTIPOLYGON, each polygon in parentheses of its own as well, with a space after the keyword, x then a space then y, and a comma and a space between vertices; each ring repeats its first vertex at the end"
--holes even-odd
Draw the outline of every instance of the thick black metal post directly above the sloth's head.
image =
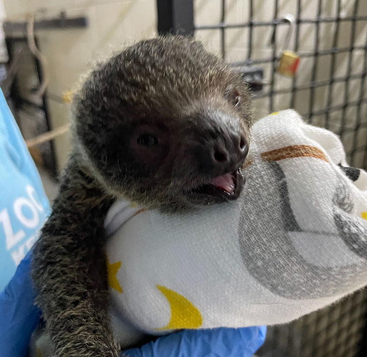
POLYGON ((157 0, 157 12, 160 35, 194 33, 193 0, 157 0))

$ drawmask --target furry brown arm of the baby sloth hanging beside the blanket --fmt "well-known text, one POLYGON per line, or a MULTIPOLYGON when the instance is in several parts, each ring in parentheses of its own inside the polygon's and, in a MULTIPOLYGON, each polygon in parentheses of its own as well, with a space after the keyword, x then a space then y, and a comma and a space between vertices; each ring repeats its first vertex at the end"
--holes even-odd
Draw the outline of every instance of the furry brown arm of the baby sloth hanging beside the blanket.
POLYGON ((108 316, 103 221, 112 199, 73 155, 33 255, 55 356, 118 356, 108 316))

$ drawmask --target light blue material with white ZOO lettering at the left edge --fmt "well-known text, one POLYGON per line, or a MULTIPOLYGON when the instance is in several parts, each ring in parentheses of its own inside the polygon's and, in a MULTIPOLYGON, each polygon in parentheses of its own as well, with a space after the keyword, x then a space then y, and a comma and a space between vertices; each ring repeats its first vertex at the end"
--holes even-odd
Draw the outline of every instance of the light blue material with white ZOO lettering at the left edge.
POLYGON ((38 238, 49 203, 30 153, 0 93, 0 291, 38 238))

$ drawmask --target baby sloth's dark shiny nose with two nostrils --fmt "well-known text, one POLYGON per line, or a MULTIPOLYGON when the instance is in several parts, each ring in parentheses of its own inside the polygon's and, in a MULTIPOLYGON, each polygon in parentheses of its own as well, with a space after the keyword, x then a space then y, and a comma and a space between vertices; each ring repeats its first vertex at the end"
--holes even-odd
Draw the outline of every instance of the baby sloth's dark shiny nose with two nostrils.
POLYGON ((236 170, 244 162, 248 149, 243 135, 228 131, 215 139, 204 140, 195 154, 200 171, 217 175, 236 170))

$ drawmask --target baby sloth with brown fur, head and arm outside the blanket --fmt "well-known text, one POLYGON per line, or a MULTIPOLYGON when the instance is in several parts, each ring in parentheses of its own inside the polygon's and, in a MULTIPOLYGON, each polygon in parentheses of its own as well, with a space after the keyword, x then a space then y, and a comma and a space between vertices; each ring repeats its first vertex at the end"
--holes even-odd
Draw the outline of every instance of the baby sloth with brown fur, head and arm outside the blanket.
POLYGON ((184 37, 141 41, 74 96, 73 150, 34 248, 55 356, 116 357, 103 221, 116 198, 177 212, 239 196, 252 110, 240 75, 184 37))

